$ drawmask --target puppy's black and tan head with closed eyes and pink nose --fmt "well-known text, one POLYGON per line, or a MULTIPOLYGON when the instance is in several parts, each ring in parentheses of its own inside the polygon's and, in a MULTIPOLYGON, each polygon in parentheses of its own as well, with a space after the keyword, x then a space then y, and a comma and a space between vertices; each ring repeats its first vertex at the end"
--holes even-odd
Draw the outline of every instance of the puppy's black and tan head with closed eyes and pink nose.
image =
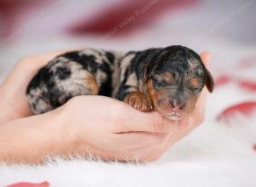
POLYGON ((148 62, 143 81, 154 109, 172 120, 195 111, 202 88, 212 93, 214 82, 198 54, 183 46, 164 48, 156 60, 148 62))

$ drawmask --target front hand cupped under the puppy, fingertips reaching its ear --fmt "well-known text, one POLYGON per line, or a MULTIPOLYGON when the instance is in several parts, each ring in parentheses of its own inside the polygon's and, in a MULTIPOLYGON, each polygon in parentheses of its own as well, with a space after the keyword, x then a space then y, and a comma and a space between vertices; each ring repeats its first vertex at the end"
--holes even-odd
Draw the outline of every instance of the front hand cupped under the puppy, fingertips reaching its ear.
MULTIPOLYGON (((201 59, 208 68, 210 54, 201 54, 201 59)), ((204 121, 206 94, 204 88, 193 115, 179 122, 101 96, 69 100, 62 107, 61 118, 67 125, 68 137, 72 137, 73 154, 106 160, 153 161, 204 121)))

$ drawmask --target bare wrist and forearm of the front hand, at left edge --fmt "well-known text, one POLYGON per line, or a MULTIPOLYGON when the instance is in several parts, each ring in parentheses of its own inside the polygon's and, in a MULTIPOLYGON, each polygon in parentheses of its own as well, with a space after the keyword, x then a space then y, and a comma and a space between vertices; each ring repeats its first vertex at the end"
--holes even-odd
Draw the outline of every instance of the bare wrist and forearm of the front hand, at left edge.
POLYGON ((70 147, 58 111, 0 125, 0 161, 39 163, 48 156, 67 156, 70 147))

